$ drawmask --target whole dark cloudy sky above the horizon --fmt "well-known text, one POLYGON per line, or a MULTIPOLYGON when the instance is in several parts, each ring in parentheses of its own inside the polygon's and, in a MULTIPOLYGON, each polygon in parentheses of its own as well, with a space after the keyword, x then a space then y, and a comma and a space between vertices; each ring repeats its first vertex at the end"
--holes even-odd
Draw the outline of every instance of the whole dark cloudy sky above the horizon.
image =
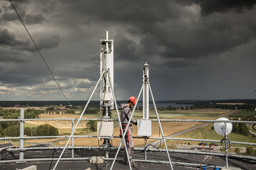
MULTIPOLYGON (((155 100, 256 98, 256 1, 11 1, 68 100, 92 94, 106 31, 118 100, 138 96, 145 62, 155 100)), ((3 0, 0 100, 65 100, 3 0)))

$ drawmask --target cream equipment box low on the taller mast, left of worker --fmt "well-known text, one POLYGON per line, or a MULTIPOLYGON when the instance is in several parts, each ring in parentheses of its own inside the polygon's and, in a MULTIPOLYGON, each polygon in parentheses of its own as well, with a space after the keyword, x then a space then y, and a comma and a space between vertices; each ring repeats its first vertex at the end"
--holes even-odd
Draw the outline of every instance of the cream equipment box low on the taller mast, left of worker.
POLYGON ((114 137, 114 122, 97 122, 97 138, 113 139, 114 137))

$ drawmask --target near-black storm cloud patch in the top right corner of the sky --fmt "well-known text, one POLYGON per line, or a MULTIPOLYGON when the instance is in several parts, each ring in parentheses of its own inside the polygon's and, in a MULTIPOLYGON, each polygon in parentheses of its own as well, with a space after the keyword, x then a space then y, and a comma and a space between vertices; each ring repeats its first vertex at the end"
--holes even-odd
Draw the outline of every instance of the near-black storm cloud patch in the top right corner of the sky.
POLYGON ((208 16, 213 13, 226 13, 234 11, 235 13, 243 13, 244 10, 252 10, 256 4, 254 0, 180 0, 179 3, 199 4, 202 16, 208 16))

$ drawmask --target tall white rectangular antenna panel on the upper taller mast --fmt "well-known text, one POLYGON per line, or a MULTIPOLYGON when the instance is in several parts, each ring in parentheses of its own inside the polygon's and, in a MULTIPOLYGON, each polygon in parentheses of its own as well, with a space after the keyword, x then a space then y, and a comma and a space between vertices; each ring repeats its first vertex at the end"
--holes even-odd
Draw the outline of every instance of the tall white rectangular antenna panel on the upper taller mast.
MULTIPOLYGON (((100 75, 102 74, 103 70, 108 67, 109 72, 110 72, 110 78, 111 78, 111 83, 114 86, 114 45, 113 45, 114 40, 101 40, 101 64, 100 64, 100 75), (108 51, 106 51, 106 44, 108 43, 108 51), (106 61, 106 56, 108 54, 108 60, 106 61)), ((110 78, 108 79, 108 88, 106 90, 106 81, 107 75, 105 74, 103 78, 101 79, 101 87, 100 87, 100 105, 101 109, 103 109, 103 100, 104 96, 106 96, 104 93, 111 93, 112 101, 114 101, 113 98, 113 93, 111 91, 110 87, 110 78)), ((114 89, 114 87, 113 87, 114 89)), ((107 94, 109 97, 109 94, 107 94)), ((111 101, 108 100, 107 101, 111 101)), ((111 109, 114 109, 114 103, 111 104, 111 109)))

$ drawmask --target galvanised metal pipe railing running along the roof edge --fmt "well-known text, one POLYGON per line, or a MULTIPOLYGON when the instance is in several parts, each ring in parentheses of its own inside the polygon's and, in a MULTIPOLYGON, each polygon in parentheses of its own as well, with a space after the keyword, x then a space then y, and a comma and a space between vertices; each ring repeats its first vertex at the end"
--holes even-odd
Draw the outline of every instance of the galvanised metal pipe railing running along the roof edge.
MULTIPOLYGON (((62 136, 24 136, 24 123, 25 121, 71 121, 72 127, 74 125, 74 121, 77 121, 77 118, 47 118, 47 119, 24 119, 24 109, 21 109, 20 117, 19 119, 0 119, 0 121, 20 121, 20 137, 0 137, 2 140, 11 141, 12 139, 20 139, 19 147, 17 148, 8 148, 10 151, 19 151, 20 157, 18 160, 1 160, 1 154, 0 154, 0 163, 4 162, 19 162, 19 161, 35 161, 35 160, 57 160, 57 158, 36 158, 36 159, 24 159, 24 151, 27 150, 46 150, 46 149, 63 149, 62 146, 53 146, 53 147, 24 147, 24 139, 35 139, 35 138, 67 138, 70 137, 70 135, 62 135, 62 136)), ((81 121, 89 121, 89 120, 97 120, 101 121, 100 119, 88 119, 88 118, 81 118, 81 121)), ((151 121, 158 121, 157 119, 149 119, 151 121)), ((118 121, 118 119, 109 119, 109 121, 118 121)), ((208 122, 208 123, 214 123, 214 122, 232 122, 232 123, 245 123, 245 124, 256 124, 256 121, 237 121, 237 120, 201 120, 201 119, 161 119, 160 121, 164 122, 208 122)), ((61 158, 61 160, 72 160, 72 159, 89 159, 88 157, 74 157, 73 151, 74 149, 100 149, 101 147, 92 147, 92 146, 73 146, 73 138, 79 138, 79 137, 97 137, 97 135, 72 135, 72 144, 67 147, 67 149, 72 150, 72 156, 70 158, 61 158)), ((119 136, 114 136, 114 138, 120 138, 119 136)), ((133 138, 141 138, 141 139, 162 139, 162 137, 139 137, 139 136, 133 136, 133 138)), ((188 141, 205 141, 205 142, 221 142, 221 140, 211 140, 211 139, 194 139, 194 138, 174 138, 174 137, 165 137, 166 140, 188 140, 188 141)), ((226 142, 226 141, 225 141, 226 142)), ((232 144, 241 144, 241 145, 251 145, 256 146, 256 143, 249 143, 249 142, 238 142, 238 141, 231 141, 232 144)), ((227 143, 225 143, 227 144, 227 143)), ((117 147, 110 148, 112 150, 117 150, 117 147)), ((150 149, 150 148, 135 148, 134 150, 144 150, 146 151, 166 151, 166 149, 150 149)), ((256 160, 255 156, 246 156, 246 155, 239 155, 239 154, 228 154, 227 148, 225 148, 225 153, 218 153, 218 152, 205 152, 205 151, 195 151, 195 150, 183 150, 183 149, 168 149, 168 152, 180 152, 180 153, 191 153, 191 154, 207 154, 207 155, 218 155, 218 156, 225 156, 226 157, 226 166, 228 164, 228 157, 237 157, 237 158, 247 158, 247 159, 253 159, 256 160)), ((146 154, 145 154, 146 155, 146 154)), ((104 158, 107 160, 113 160, 114 158, 104 158)), ((135 160, 136 161, 136 160, 135 160)), ((144 157, 143 160, 139 159, 137 161, 144 161, 144 162, 152 162, 151 160, 147 160, 146 157, 144 157)), ((158 161, 156 161, 157 163, 158 161)), ((168 162, 161 162, 158 163, 168 163, 168 162)), ((182 163, 181 163, 182 164, 182 163)), ((192 163, 193 164, 193 163, 192 163)), ((217 166, 216 166, 217 167, 217 166)), ((220 167, 223 168, 223 167, 220 167)), ((235 168, 234 168, 235 169, 235 168)))

